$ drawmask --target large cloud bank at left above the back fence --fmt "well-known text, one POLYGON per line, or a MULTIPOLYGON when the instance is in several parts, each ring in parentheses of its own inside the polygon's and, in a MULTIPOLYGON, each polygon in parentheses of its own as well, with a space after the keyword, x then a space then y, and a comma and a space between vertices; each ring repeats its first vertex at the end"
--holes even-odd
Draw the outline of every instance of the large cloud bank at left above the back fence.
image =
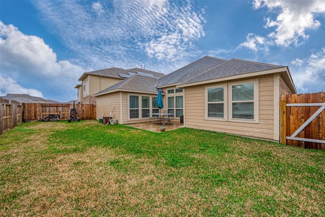
POLYGON ((53 50, 37 36, 27 36, 0 21, 1 92, 28 91, 30 95, 56 95, 61 101, 76 98, 74 86, 84 71, 67 60, 57 60, 53 50))

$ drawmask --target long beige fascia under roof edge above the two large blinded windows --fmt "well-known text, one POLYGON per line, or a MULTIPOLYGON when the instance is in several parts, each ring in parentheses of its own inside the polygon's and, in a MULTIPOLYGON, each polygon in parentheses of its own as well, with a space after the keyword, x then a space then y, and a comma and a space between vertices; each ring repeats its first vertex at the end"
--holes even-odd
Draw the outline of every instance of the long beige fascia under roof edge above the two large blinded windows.
MULTIPOLYGON (((176 87, 183 88, 183 87, 188 87, 188 86, 202 85, 202 84, 215 83, 215 82, 220 82, 220 81, 228 81, 228 80, 247 78, 247 77, 254 77, 254 76, 267 75, 267 74, 273 74, 273 73, 279 73, 279 72, 288 72, 287 67, 280 67, 280 68, 276 68, 276 69, 244 73, 244 74, 239 74, 239 75, 198 81, 198 82, 193 82, 193 83, 185 83, 185 84, 177 85, 176 87)), ((291 83, 293 84, 292 80, 291 80, 291 83)))

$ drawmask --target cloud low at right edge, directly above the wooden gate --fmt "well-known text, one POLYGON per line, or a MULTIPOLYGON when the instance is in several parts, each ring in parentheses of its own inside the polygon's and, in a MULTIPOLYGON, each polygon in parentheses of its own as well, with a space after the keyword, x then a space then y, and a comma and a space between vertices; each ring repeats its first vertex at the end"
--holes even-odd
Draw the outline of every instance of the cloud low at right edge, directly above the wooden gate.
POLYGON ((291 70, 298 91, 317 92, 325 90, 324 48, 322 48, 321 52, 311 54, 305 60, 296 59, 291 61, 291 64, 298 66, 294 71, 291 70), (306 65, 303 65, 303 63, 306 63, 306 65))

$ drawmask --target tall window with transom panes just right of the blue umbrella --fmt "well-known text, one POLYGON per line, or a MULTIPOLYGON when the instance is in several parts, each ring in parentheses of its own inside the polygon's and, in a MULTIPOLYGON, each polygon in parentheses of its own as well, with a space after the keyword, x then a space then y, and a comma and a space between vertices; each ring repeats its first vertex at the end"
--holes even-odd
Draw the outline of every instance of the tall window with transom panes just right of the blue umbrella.
POLYGON ((183 89, 175 88, 167 90, 168 113, 174 111, 175 117, 183 115, 183 89))

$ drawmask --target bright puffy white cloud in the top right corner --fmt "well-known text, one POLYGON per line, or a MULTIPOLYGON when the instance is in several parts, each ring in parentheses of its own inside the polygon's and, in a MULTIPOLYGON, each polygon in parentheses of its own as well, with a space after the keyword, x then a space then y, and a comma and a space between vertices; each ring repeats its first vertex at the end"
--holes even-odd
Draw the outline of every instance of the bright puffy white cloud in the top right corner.
POLYGON ((272 12, 280 11, 276 20, 266 18, 266 28, 275 27, 268 35, 276 45, 288 47, 291 44, 299 46, 308 39, 307 29, 317 29, 320 22, 316 16, 325 13, 325 1, 285 1, 285 0, 254 0, 255 9, 267 7, 272 12), (279 9, 279 10, 278 10, 279 9))

